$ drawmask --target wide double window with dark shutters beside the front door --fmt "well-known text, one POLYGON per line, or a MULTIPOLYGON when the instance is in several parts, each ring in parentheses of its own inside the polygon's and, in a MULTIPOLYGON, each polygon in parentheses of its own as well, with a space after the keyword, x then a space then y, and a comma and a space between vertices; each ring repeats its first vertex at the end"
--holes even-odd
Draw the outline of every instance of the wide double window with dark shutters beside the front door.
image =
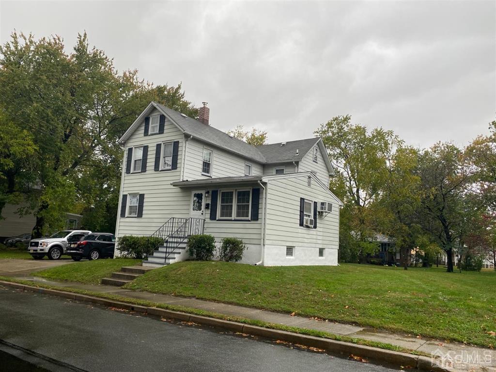
POLYGON ((249 220, 251 190, 221 190, 219 194, 219 219, 249 220))

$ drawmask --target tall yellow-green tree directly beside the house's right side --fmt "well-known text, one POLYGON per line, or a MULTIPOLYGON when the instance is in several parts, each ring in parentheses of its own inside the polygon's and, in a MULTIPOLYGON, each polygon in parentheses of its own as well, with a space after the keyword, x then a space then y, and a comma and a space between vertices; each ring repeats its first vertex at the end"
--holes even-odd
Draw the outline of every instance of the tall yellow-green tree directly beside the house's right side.
POLYGON ((351 116, 337 116, 315 131, 329 149, 336 169, 330 188, 343 202, 348 231, 340 231, 340 247, 356 251, 362 261, 376 249, 371 242, 377 231, 375 202, 387 179, 386 161, 393 144, 399 139, 382 128, 371 132, 365 126, 351 123, 351 116))

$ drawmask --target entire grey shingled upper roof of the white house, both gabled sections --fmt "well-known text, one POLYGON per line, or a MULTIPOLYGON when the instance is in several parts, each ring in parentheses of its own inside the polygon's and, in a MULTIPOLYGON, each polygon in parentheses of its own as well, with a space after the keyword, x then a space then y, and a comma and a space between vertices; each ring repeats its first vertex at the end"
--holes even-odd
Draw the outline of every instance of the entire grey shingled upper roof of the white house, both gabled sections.
MULTIPOLYGON (((136 120, 134 120, 127 131, 125 131, 124 135, 119 139, 120 143, 125 142, 132 135, 136 128, 143 122, 145 116, 148 115, 150 110, 154 107, 164 114, 172 123, 174 123, 183 132, 183 134, 193 136, 193 138, 198 141, 237 153, 240 156, 253 159, 262 164, 299 161, 317 143, 321 151, 323 151, 322 153, 327 153, 320 137, 309 138, 306 140, 288 141, 285 146, 281 146, 281 143, 278 143, 254 147, 248 145, 244 141, 231 137, 227 133, 224 133, 214 127, 205 125, 196 119, 190 118, 180 112, 153 101, 146 106, 143 112, 141 112, 136 120), (298 155, 296 155, 297 149, 299 152, 298 155)), ((334 169, 331 165, 329 157, 324 156, 324 160, 327 168, 329 169, 329 174, 333 174, 334 169)))

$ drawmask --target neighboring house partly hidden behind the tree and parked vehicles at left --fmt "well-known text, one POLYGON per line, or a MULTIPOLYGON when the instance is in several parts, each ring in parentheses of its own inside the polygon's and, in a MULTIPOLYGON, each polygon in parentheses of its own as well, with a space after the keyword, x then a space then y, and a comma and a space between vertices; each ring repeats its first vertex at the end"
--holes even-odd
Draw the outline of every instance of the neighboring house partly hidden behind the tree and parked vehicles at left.
MULTIPOLYGON (((2 211, 3 219, 0 220, 0 241, 6 237, 30 233, 36 224, 34 214, 20 216, 17 210, 24 205, 6 204, 2 211)), ((65 228, 78 228, 83 216, 67 213, 65 228)), ((55 232, 55 231, 54 231, 55 232)))

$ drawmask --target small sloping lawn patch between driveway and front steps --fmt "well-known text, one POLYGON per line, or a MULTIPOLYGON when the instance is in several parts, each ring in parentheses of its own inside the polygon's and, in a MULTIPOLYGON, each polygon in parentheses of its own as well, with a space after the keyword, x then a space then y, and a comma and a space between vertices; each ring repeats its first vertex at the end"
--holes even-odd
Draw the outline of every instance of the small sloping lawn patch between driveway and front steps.
POLYGON ((142 260, 131 258, 80 261, 32 273, 47 279, 64 280, 86 284, 100 284, 102 278, 109 278, 123 266, 139 265, 142 260))

